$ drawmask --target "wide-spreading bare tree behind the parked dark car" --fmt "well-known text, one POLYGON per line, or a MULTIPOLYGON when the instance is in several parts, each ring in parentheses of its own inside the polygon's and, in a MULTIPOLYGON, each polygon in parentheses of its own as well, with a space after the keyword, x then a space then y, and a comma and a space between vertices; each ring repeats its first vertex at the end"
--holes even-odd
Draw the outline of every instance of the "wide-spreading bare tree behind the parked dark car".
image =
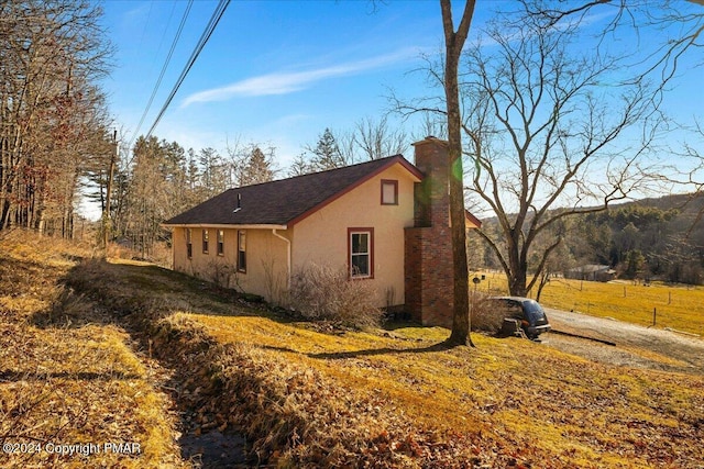
POLYGON ((540 281, 561 243, 544 246, 529 269, 541 232, 652 182, 658 170, 647 153, 662 122, 658 97, 666 83, 648 80, 652 64, 638 67, 603 42, 580 52, 585 9, 556 19, 522 4, 519 20, 507 15, 487 31, 492 53, 482 45, 469 52, 463 87, 473 101, 463 122, 476 164, 470 189, 496 213, 504 247, 479 233, 517 295, 540 281))

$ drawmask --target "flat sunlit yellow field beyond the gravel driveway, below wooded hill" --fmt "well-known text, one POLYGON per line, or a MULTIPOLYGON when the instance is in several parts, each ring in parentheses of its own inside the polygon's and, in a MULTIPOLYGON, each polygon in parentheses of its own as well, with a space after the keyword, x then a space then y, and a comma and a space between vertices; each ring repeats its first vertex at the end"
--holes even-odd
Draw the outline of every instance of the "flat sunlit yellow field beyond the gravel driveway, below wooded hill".
MULTIPOLYGON (((481 275, 481 273, 479 273, 481 275)), ((507 294, 503 273, 484 272, 477 291, 507 294)), ((535 295, 534 295, 535 298, 535 295)), ((540 302, 564 311, 579 311, 645 326, 670 327, 704 337, 704 288, 663 283, 608 283, 553 278, 540 302)))

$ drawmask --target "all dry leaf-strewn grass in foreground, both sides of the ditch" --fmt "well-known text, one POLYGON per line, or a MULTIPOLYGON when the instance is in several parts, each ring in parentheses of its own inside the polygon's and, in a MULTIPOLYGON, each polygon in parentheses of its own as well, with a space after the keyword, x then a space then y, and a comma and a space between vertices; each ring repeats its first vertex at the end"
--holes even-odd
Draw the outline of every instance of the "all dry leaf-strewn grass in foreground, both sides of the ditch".
MULTIPOLYGON (((22 347, 2 356, 11 371, 0 379, 6 440, 122 437, 150 448, 89 460, 125 467, 185 464, 176 432, 216 428, 248 437, 251 465, 284 468, 701 468, 704 460, 698 375, 597 364, 480 334, 475 348, 448 348, 448 331, 437 327, 297 322, 155 266, 79 261, 55 248, 63 252, 45 255, 63 263, 61 278, 42 273, 48 265, 32 254, 2 250, 3 263, 20 263, 3 278, 20 268, 22 284, 61 280, 74 292, 54 308, 28 300, 21 313, 22 294, 2 293, 3 315, 14 314, 3 316, 3 345, 22 347), (172 370, 166 395, 150 369, 172 370), (26 399, 50 394, 42 402, 52 405, 23 404, 20 387, 26 399), (193 425, 179 427, 168 409, 188 409, 193 425), (66 416, 54 422, 58 411, 66 416), (81 425, 68 428, 76 415, 81 425)), ((41 462, 25 456, 16 466, 41 462)))

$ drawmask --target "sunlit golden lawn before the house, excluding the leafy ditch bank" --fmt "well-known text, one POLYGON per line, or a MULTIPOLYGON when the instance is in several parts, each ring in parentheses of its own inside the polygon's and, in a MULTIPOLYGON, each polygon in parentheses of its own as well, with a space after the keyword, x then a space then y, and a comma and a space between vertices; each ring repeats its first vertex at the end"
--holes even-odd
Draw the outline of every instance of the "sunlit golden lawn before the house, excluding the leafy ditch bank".
MULTIPOLYGON (((188 317, 219 342, 246 344, 273 362, 284 357, 375 401, 382 414, 403 415, 411 432, 432 435, 419 439, 421 448, 464 436, 472 442, 464 457, 474 451, 490 464, 506 461, 499 454, 535 467, 704 460, 701 377, 597 365, 513 338, 475 335, 476 349, 447 350, 437 347, 447 336, 439 328, 330 335, 265 317, 188 317)), ((372 440, 388 432, 383 417, 365 431, 372 440)), ((403 435, 396 438, 400 447, 403 435)))

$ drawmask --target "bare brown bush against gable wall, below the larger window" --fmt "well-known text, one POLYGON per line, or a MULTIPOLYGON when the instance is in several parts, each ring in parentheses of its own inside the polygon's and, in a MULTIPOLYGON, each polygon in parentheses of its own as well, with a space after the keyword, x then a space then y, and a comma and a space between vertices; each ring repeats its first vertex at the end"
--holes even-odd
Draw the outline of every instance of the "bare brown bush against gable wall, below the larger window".
POLYGON ((292 278, 290 305, 307 320, 377 326, 382 311, 375 300, 372 283, 350 280, 346 269, 310 264, 292 278))

